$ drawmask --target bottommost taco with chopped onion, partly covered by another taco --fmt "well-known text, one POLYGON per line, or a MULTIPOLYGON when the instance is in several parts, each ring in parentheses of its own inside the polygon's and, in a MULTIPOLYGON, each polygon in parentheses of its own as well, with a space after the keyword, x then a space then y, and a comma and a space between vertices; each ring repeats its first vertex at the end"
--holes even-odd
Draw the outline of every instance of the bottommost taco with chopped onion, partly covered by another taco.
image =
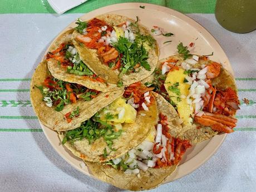
POLYGON ((149 136, 139 146, 106 163, 85 161, 96 178, 121 189, 137 191, 155 188, 174 173, 191 145, 182 139, 182 127, 174 107, 157 93, 153 95, 159 116, 149 136))

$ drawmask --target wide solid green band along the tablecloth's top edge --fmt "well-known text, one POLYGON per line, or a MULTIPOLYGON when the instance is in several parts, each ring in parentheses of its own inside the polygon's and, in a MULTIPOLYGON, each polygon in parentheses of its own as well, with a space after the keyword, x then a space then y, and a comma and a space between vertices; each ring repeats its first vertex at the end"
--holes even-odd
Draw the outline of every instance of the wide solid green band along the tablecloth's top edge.
MULTIPOLYGON (((116 3, 152 3, 176 9, 182 13, 214 13, 216 0, 88 0, 66 13, 87 13, 116 3)), ((46 0, 2 0, 0 13, 55 13, 46 0)))

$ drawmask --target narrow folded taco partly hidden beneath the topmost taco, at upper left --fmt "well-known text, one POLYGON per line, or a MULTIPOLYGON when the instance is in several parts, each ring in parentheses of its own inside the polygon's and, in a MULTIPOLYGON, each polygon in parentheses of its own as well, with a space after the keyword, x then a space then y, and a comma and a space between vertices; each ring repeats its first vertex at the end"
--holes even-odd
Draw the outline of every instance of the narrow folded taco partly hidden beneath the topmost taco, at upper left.
POLYGON ((73 31, 70 29, 62 33, 49 48, 46 60, 52 76, 102 92, 120 89, 96 76, 81 60, 71 40, 73 31))

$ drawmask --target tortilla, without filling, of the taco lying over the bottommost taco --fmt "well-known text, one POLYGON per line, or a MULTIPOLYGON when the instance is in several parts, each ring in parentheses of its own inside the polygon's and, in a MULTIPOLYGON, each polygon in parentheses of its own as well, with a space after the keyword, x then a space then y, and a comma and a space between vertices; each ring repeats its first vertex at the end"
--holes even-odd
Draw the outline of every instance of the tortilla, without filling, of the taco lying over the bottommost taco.
MULTIPOLYGON (((122 134, 117 139, 112 140, 114 144, 113 148, 116 151, 111 151, 110 154, 103 158, 102 154, 106 147, 108 149, 104 138, 99 138, 89 144, 87 139, 77 140, 73 142, 73 145, 69 141, 66 142, 65 146, 77 157, 80 157, 86 161, 93 162, 104 162, 111 159, 115 159, 122 154, 125 154, 130 149, 139 145, 149 134, 150 127, 156 124, 157 119, 157 109, 156 101, 151 102, 149 106, 149 111, 140 110, 137 112, 136 120, 132 124, 124 123, 122 125, 122 134), (146 114, 142 116, 141 114, 146 114)), ((59 134, 61 141, 65 136, 65 133, 59 134)))

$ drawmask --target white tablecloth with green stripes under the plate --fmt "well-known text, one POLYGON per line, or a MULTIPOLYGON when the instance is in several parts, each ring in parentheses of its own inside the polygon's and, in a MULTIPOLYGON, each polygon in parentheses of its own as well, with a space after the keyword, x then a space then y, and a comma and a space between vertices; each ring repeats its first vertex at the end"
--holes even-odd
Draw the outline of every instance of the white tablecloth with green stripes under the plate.
MULTIPOLYGON (((67 164, 47 141, 29 100, 33 70, 53 38, 83 13, 120 2, 135 1, 89 0, 61 16, 45 0, 1 1, 0 191, 120 191, 67 164)), ((208 29, 232 63, 242 103, 236 131, 209 161, 152 191, 256 191, 256 31, 235 34, 220 27, 213 0, 139 2, 177 9, 208 29)))

